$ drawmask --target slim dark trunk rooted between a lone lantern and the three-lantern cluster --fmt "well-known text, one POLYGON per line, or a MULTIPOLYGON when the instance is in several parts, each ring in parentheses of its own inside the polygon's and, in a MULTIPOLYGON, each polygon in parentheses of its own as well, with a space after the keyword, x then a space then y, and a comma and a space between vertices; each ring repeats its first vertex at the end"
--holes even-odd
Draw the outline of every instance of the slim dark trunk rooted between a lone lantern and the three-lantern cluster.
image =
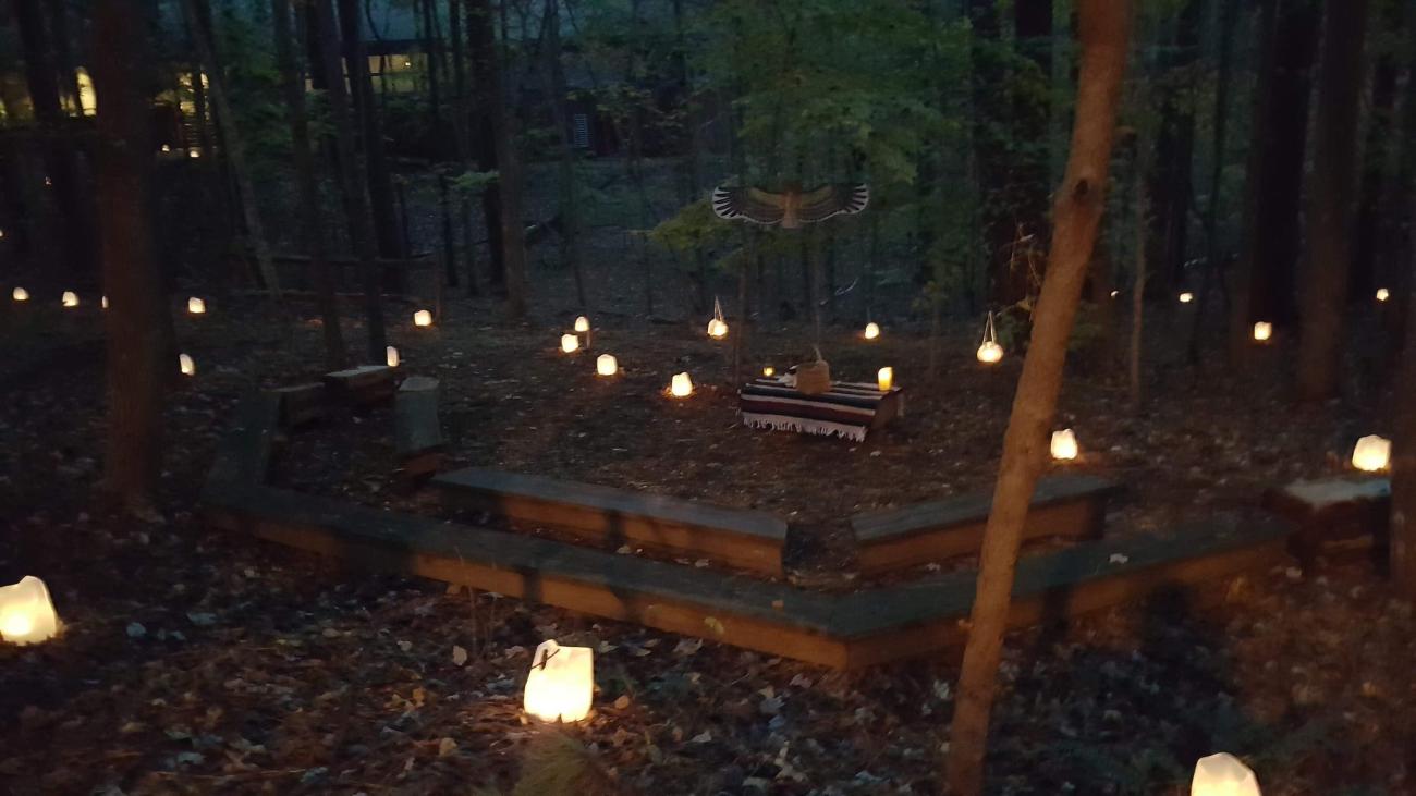
POLYGON ((507 289, 507 312, 513 319, 527 314, 527 249, 525 227, 521 218, 521 166, 511 135, 511 119, 507 115, 501 92, 500 67, 497 64, 497 42, 491 31, 490 0, 469 0, 467 30, 472 41, 473 74, 477 75, 477 105, 490 123, 490 144, 496 153, 500 178, 503 282, 507 289))

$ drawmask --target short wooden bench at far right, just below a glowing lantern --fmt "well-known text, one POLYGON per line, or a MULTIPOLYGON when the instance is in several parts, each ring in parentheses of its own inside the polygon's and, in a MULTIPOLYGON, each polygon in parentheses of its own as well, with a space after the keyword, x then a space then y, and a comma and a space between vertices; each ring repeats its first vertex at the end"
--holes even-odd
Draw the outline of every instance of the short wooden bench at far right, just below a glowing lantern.
POLYGON ((1264 508, 1297 525, 1293 554, 1310 569, 1323 554, 1369 550, 1386 554, 1392 513, 1389 479, 1323 479, 1294 482, 1263 493, 1264 508))

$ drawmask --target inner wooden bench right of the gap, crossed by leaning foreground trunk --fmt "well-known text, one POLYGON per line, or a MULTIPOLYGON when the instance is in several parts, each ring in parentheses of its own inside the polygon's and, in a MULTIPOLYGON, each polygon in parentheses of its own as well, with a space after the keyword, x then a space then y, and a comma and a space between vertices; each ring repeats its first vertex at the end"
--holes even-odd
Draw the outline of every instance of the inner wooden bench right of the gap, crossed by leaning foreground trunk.
MULTIPOLYGON (((1049 476, 1038 482, 1024 540, 1089 538, 1102 533, 1106 500, 1120 491, 1109 479, 1049 476)), ((993 507, 991 493, 916 503, 851 517, 861 572, 875 575, 978 552, 993 507)))

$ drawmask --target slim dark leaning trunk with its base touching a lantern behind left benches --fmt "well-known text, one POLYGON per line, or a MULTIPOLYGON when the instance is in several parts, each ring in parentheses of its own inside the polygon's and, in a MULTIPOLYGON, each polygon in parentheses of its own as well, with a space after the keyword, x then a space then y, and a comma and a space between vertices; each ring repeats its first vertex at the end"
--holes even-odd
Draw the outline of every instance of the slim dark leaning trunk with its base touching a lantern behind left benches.
POLYGON ((334 146, 340 161, 340 188, 344 195, 344 215, 348 221, 350 241, 354 256, 360 261, 364 282, 364 322, 368 326, 368 357, 371 363, 384 361, 387 336, 384 331, 382 273, 378 252, 370 235, 368 201, 364 190, 368 178, 364 174, 364 159, 354 146, 351 132, 350 101, 340 69, 340 37, 334 24, 334 0, 314 0, 314 31, 320 50, 320 62, 329 78, 326 92, 330 102, 330 118, 334 123, 334 146))

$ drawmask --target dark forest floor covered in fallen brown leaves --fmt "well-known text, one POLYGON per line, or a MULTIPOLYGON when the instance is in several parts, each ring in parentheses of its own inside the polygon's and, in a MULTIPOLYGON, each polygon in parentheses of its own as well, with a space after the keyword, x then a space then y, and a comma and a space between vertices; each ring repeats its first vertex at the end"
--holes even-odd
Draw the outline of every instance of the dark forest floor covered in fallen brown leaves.
MULTIPOLYGON (((17 353, 0 373, 0 575, 41 575, 65 622, 51 643, 0 646, 7 792, 510 790, 523 769, 545 768, 525 755, 558 732, 520 711, 530 652, 547 637, 598 649, 595 714, 564 732, 607 772, 607 792, 936 792, 957 677, 947 656, 833 673, 347 572, 205 524, 197 493, 238 395, 321 371, 310 307, 289 331, 249 299, 177 317, 198 373, 166 415, 161 518, 95 507, 105 428, 95 305, 0 317, 17 353)), ((833 371, 869 378, 891 364, 909 401, 905 418, 852 443, 741 426, 726 348, 702 334, 707 319, 600 313, 595 350, 566 357, 556 341, 569 312, 508 326, 490 305, 459 299, 423 330, 413 309, 391 303, 391 343, 408 373, 443 380, 449 467, 763 507, 826 550, 848 513, 987 489, 1020 367, 1018 357, 978 367, 976 324, 950 324, 929 381, 922 336, 886 326, 867 344, 834 326, 823 340, 833 371), (627 373, 596 380, 599 351, 627 373), (700 392, 673 402, 660 391, 680 370, 700 392)), ((1232 374, 1181 364, 1177 329, 1188 329, 1182 316, 1158 313, 1141 412, 1113 373, 1076 373, 1065 387, 1058 425, 1075 428, 1083 450, 1068 469, 1130 489, 1109 534, 1252 506, 1266 486, 1340 470, 1352 438, 1382 431, 1374 423, 1391 397, 1362 387, 1379 385, 1365 365, 1352 380, 1359 401, 1301 408, 1287 398, 1281 343, 1232 374)), ((361 350, 360 326, 346 331, 361 350)), ((787 365, 807 343, 806 329, 762 323, 745 360, 787 365)), ((392 484, 388 421, 372 411, 295 435, 276 477, 418 507, 392 484)), ((1219 602, 1015 635, 988 792, 1178 795, 1194 761, 1223 749, 1256 768, 1269 796, 1416 793, 1416 619, 1368 562, 1255 572, 1219 602)))

